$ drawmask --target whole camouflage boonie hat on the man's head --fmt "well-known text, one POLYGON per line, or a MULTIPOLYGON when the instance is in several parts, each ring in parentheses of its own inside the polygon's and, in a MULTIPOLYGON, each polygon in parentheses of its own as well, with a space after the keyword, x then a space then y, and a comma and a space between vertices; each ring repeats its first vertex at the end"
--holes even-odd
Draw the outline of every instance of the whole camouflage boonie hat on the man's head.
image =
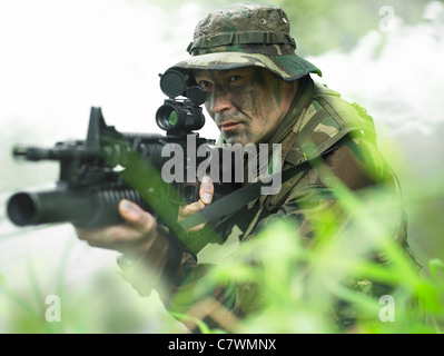
POLYGON ((286 13, 275 6, 237 3, 210 12, 196 27, 187 51, 174 68, 227 70, 256 66, 290 81, 318 68, 296 56, 286 13))

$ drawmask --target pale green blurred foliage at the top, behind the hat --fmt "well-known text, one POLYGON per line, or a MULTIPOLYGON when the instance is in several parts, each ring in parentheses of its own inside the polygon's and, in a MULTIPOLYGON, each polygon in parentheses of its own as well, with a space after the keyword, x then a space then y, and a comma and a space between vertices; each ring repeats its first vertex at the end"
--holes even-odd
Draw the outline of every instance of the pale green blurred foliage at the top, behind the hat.
MULTIPOLYGON (((159 3, 167 11, 174 11, 184 1, 147 0, 159 3)), ((227 0, 195 0, 206 12, 217 10, 230 3, 241 1, 227 0)), ((248 1, 247 1, 248 2, 248 1)), ((379 13, 383 7, 389 6, 394 14, 403 19, 404 23, 418 22, 428 0, 268 0, 249 1, 255 3, 276 4, 282 7, 290 21, 292 34, 296 39, 297 52, 302 56, 318 56, 332 49, 352 50, 361 37, 371 30, 378 30, 379 22, 386 13, 379 13)), ((193 33, 185 33, 185 47, 193 38, 193 33)), ((184 47, 184 50, 185 50, 184 47)))

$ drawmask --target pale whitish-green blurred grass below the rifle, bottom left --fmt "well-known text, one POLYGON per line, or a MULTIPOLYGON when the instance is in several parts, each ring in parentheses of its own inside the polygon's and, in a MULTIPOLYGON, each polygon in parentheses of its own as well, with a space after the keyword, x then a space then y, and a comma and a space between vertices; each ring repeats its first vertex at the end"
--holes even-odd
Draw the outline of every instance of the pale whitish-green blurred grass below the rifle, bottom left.
POLYGON ((29 269, 28 277, 19 286, 11 273, 0 279, 0 334, 156 333, 160 325, 168 329, 177 325, 156 293, 140 298, 112 268, 95 271, 80 285, 63 283, 62 266, 53 276, 37 277, 29 269), (50 303, 48 296, 60 303, 50 303), (51 308, 59 308, 59 319, 51 318, 51 308))

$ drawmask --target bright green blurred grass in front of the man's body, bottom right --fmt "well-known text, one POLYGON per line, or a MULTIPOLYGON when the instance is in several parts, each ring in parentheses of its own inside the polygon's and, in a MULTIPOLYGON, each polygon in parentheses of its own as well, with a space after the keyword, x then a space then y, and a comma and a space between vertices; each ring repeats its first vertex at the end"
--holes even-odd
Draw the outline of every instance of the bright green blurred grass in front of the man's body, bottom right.
MULTIPOLYGON (((414 194, 405 197, 411 211, 417 212, 430 199, 444 200, 438 180, 426 191, 417 181, 414 185, 414 194)), ((209 295, 216 286, 250 284, 251 280, 266 294, 263 308, 246 319, 231 323, 229 332, 443 333, 442 255, 432 254, 434 257, 423 260, 421 270, 399 249, 391 233, 392 217, 398 206, 387 199, 386 191, 372 190, 357 196, 339 188, 338 196, 353 221, 347 234, 329 225, 319 225, 322 234, 307 246, 292 221, 276 220, 199 280, 195 293, 201 296, 209 295), (374 256, 383 256, 384 263, 376 261, 374 256), (393 320, 385 319, 387 298, 393 298, 393 320), (354 322, 337 324, 337 317, 354 322)), ((440 211, 442 216, 444 210, 440 211)), ((427 226, 422 224, 416 228, 420 234, 427 229, 438 231, 440 221, 431 219, 427 226)), ((208 315, 216 318, 224 313, 219 307, 208 315)), ((182 317, 191 318, 190 315, 182 317)), ((203 333, 220 332, 207 325, 199 325, 199 328, 203 333)))

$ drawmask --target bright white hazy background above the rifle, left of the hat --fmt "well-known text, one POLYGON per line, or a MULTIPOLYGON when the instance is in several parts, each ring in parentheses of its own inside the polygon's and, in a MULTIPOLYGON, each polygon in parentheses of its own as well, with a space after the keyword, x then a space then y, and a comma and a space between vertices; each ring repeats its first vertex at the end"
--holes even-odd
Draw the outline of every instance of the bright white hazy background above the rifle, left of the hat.
POLYGON ((101 106, 119 130, 158 129, 158 73, 187 55, 200 16, 193 3, 167 13, 141 0, 2 0, 1 123, 82 138, 101 106))

